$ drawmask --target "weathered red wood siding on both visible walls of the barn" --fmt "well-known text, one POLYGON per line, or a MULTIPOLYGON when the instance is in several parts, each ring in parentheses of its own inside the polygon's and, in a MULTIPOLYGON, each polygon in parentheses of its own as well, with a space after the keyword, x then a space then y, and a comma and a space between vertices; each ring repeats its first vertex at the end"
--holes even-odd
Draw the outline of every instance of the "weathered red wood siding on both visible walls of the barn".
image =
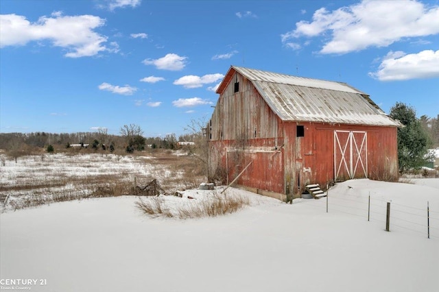
POLYGON ((252 161, 237 183, 256 190, 300 197, 306 184, 324 187, 350 175, 373 180, 398 178, 396 127, 282 121, 239 73, 219 96, 207 135, 209 176, 226 173, 226 182, 231 182, 252 161), (235 82, 239 82, 237 93, 235 82), (298 125, 304 127, 302 137, 297 137, 298 125), (359 146, 348 145, 356 149, 349 150, 352 156, 344 149, 345 142, 343 154, 335 154, 335 131, 345 141, 350 135, 356 141, 366 138, 359 146), (360 158, 364 165, 353 174, 341 168, 336 178, 335 165, 342 155, 351 156, 355 163, 360 158))

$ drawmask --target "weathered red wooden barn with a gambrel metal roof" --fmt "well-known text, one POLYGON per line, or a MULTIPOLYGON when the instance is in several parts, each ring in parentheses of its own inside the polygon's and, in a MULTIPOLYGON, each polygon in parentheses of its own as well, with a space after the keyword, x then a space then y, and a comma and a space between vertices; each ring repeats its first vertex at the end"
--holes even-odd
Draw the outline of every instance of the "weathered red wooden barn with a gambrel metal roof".
POLYGON ((231 66, 207 127, 209 177, 279 199, 307 184, 398 178, 396 128, 348 84, 231 66))

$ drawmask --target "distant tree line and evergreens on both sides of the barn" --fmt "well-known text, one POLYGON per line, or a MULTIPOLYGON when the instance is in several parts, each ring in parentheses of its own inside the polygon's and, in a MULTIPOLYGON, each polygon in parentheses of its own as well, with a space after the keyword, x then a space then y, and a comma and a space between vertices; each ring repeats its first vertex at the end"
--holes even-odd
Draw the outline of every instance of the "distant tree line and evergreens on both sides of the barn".
MULTIPOLYGON (((439 114, 437 117, 416 117, 416 110, 407 104, 397 102, 390 109, 390 117, 403 124, 398 128, 398 160, 399 171, 405 173, 412 169, 420 169, 432 157, 428 149, 439 147, 439 114)), ((202 165, 207 165, 207 140, 202 132, 206 121, 193 120, 185 131, 187 134, 167 134, 165 137, 145 137, 139 125, 123 125, 119 135, 108 134, 105 128, 97 132, 76 133, 0 133, 0 149, 5 149, 11 156, 17 157, 29 152, 32 147, 54 151, 54 148, 69 148, 72 144, 91 147, 94 151, 115 151, 116 149, 132 153, 145 148, 176 149, 178 142, 193 141, 196 147, 189 151, 196 154, 202 165), (50 147, 49 147, 50 146, 50 147)))

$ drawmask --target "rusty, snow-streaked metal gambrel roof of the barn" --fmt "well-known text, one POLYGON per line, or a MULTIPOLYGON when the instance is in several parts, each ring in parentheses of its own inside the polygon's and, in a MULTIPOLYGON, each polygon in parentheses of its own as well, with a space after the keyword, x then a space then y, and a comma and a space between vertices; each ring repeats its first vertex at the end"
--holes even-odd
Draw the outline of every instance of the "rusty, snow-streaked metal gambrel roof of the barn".
POLYGON ((231 66, 217 93, 224 91, 235 71, 252 82, 283 121, 401 126, 379 109, 366 93, 342 82, 231 66))

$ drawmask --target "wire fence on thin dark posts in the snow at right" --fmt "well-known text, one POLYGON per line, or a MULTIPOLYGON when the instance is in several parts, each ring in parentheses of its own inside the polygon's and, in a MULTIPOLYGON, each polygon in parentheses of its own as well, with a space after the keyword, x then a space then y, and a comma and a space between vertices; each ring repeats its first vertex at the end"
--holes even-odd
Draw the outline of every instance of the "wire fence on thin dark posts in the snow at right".
POLYGON ((368 221, 382 223, 383 226, 387 221, 387 203, 390 202, 390 231, 405 230, 424 234, 429 239, 439 239, 439 212, 438 210, 429 210, 428 202, 425 202, 425 208, 420 208, 370 195, 343 197, 331 193, 328 194, 328 197, 323 197, 320 200, 327 200, 327 203, 325 205, 309 204, 309 206, 326 209, 327 212, 341 212, 361 217, 368 221))

